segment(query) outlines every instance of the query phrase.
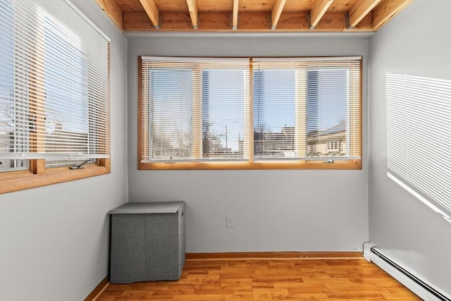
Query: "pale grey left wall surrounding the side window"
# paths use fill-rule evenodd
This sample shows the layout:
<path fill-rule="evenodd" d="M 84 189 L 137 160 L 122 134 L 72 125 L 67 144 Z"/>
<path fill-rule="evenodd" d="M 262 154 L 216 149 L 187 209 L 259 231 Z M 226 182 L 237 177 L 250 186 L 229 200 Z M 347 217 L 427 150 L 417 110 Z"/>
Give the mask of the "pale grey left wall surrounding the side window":
<path fill-rule="evenodd" d="M 73 0 L 111 38 L 111 174 L 0 195 L 0 300 L 80 301 L 107 275 L 109 217 L 127 202 L 127 41 L 95 1 Z"/>

